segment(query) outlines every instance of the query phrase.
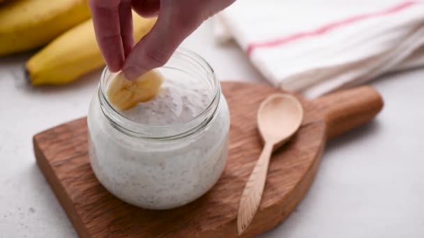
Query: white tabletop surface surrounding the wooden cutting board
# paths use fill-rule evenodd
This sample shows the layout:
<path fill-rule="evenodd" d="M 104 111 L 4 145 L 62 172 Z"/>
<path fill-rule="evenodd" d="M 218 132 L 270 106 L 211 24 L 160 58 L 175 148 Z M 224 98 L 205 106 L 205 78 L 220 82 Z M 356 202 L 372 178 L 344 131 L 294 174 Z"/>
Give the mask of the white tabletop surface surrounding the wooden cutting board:
<path fill-rule="evenodd" d="M 266 81 L 236 46 L 220 47 L 207 22 L 186 42 L 223 80 Z M 64 87 L 32 88 L 27 56 L 0 58 L 0 237 L 77 237 L 36 166 L 31 138 L 86 115 L 99 72 Z M 374 81 L 377 119 L 329 143 L 296 211 L 259 237 L 424 237 L 424 69 Z"/>

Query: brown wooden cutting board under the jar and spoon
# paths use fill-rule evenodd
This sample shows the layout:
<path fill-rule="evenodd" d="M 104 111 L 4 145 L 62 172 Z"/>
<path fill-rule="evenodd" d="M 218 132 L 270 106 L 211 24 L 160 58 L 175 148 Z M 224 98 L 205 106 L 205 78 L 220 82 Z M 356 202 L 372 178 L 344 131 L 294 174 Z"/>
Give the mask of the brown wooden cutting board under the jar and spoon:
<path fill-rule="evenodd" d="M 108 193 L 91 171 L 86 118 L 33 137 L 38 166 L 81 237 L 237 237 L 241 193 L 259 157 L 259 104 L 281 91 L 269 86 L 225 82 L 231 111 L 229 157 L 218 183 L 183 207 L 153 211 L 128 205 Z M 273 154 L 262 203 L 243 237 L 284 221 L 308 191 L 326 140 L 371 120 L 382 108 L 370 87 L 354 88 L 307 101 L 301 129 Z"/>

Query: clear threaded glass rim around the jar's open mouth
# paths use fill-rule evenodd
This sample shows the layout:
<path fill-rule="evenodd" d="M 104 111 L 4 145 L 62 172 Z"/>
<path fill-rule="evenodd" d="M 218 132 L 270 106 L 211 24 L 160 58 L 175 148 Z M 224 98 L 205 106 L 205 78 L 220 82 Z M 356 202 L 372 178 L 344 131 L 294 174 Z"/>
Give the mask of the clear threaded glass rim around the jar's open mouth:
<path fill-rule="evenodd" d="M 105 84 L 109 76 L 108 74 L 113 73 L 109 71 L 109 68 L 105 67 L 100 76 L 98 99 L 100 102 L 100 109 L 112 127 L 117 129 L 119 132 L 134 138 L 171 140 L 195 134 L 195 132 L 199 131 L 199 129 L 207 127 L 210 124 L 213 118 L 215 118 L 215 115 L 218 112 L 218 108 L 220 106 L 221 89 L 220 82 L 218 77 L 216 77 L 215 71 L 211 65 L 209 65 L 209 63 L 204 58 L 202 58 L 202 56 L 199 56 L 199 54 L 196 54 L 194 51 L 189 49 L 179 48 L 171 56 L 171 58 L 173 57 L 190 59 L 203 70 L 205 70 L 206 73 L 211 74 L 213 97 L 205 109 L 203 109 L 200 113 L 187 122 L 175 125 L 146 125 L 140 122 L 132 121 L 125 116 L 122 116 L 119 111 L 116 111 L 116 109 L 114 109 L 114 107 L 109 103 L 109 100 L 107 100 Z M 172 67 L 168 67 L 166 64 L 161 68 L 174 69 Z"/>

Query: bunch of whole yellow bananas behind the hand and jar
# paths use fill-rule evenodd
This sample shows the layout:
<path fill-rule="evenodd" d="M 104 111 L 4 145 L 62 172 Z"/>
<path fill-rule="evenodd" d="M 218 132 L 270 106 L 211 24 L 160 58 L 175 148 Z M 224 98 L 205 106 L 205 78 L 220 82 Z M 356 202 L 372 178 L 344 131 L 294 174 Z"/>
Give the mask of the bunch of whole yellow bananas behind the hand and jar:
<path fill-rule="evenodd" d="M 0 0 L 1 3 L 2 0 Z M 0 4 L 0 56 L 40 49 L 26 63 L 33 85 L 67 84 L 105 65 L 96 42 L 89 0 L 6 0 Z M 132 14 L 135 40 L 156 18 Z"/>

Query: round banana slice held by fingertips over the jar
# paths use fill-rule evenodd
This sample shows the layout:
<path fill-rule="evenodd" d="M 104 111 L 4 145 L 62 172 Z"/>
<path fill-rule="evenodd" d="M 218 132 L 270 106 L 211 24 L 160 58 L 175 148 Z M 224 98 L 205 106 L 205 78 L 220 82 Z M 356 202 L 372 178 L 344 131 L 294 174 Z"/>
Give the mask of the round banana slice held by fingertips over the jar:
<path fill-rule="evenodd" d="M 162 82 L 162 74 L 157 70 L 146 72 L 134 81 L 129 81 L 119 72 L 107 87 L 107 98 L 116 109 L 126 111 L 158 95 Z"/>

